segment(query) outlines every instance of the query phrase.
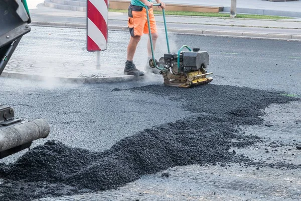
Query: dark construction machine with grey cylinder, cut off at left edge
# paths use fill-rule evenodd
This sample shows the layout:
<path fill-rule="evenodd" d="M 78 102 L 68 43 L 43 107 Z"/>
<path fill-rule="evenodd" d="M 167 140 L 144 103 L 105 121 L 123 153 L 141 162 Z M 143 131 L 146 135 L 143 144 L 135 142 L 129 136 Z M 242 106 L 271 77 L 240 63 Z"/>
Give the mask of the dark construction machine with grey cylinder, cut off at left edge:
<path fill-rule="evenodd" d="M 22 37 L 30 32 L 30 23 L 26 0 L 0 0 L 0 75 Z M 16 119 L 13 108 L 0 104 L 0 159 L 29 148 L 49 133 L 44 119 Z"/>

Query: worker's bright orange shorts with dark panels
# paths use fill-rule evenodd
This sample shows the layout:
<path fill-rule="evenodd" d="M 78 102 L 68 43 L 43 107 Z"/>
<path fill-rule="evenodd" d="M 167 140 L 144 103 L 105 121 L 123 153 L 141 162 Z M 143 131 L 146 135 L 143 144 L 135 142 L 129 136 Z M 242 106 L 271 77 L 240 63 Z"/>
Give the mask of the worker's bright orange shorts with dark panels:
<path fill-rule="evenodd" d="M 153 9 L 148 9 L 150 32 L 157 33 L 156 20 Z M 127 26 L 131 37 L 148 34 L 146 9 L 139 6 L 129 5 Z"/>

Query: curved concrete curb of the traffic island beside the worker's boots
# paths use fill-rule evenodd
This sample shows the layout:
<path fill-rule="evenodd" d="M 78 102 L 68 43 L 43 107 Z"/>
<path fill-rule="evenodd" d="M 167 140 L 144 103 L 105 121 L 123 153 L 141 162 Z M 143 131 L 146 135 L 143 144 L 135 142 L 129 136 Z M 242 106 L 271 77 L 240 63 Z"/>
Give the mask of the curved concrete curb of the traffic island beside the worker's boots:
<path fill-rule="evenodd" d="M 15 79 L 29 79 L 36 81 L 52 81 L 52 82 L 61 82 L 61 83 L 75 83 L 75 84 L 96 84 L 96 83 L 114 83 L 114 82 L 126 82 L 132 80 L 143 80 L 144 76 L 135 78 L 131 75 L 122 75 L 116 77 L 50 77 L 43 75 L 33 75 L 25 72 L 15 72 L 4 70 L 1 74 L 1 77 L 15 78 Z"/>

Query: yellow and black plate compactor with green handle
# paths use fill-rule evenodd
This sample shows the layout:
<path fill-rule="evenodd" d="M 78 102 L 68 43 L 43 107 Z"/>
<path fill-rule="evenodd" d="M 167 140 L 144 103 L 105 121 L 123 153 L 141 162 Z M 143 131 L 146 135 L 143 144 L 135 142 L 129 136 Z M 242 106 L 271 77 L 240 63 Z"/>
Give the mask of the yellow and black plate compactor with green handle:
<path fill-rule="evenodd" d="M 161 4 L 154 4 L 153 6 L 161 6 Z M 207 77 L 207 75 L 213 73 L 207 73 L 206 71 L 206 68 L 209 65 L 208 52 L 200 51 L 200 48 L 191 49 L 187 45 L 183 45 L 178 52 L 172 53 L 170 51 L 164 9 L 163 19 L 168 53 L 164 54 L 164 57 L 160 58 L 159 62 L 155 59 L 148 12 L 148 8 L 146 7 L 150 47 L 152 48 L 153 56 L 153 58 L 149 60 L 149 66 L 160 70 L 160 74 L 164 77 L 164 84 L 188 88 L 194 85 L 211 82 L 213 78 Z M 184 48 L 187 48 L 189 52 L 182 51 Z"/>

